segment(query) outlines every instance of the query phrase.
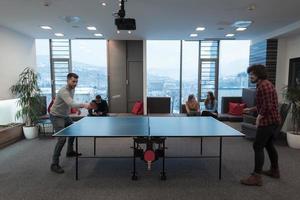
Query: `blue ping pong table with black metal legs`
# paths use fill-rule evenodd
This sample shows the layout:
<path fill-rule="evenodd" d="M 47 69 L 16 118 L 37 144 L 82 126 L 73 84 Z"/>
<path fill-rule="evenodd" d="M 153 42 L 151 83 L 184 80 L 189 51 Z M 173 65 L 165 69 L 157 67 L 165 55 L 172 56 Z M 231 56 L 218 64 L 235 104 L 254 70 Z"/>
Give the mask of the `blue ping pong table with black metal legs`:
<path fill-rule="evenodd" d="M 212 117 L 85 117 L 78 122 L 54 134 L 55 137 L 75 137 L 76 152 L 78 152 L 78 138 L 133 138 L 133 174 L 132 180 L 137 179 L 136 158 L 142 157 L 145 151 L 140 147 L 146 144 L 147 148 L 157 147 L 155 159 L 162 158 L 160 177 L 166 180 L 165 172 L 165 140 L 171 137 L 201 138 L 201 156 L 219 159 L 219 179 L 222 174 L 222 143 L 223 137 L 243 137 L 237 130 Z M 219 138 L 219 155 L 202 156 L 202 138 Z M 96 142 L 96 139 L 94 140 Z M 149 147 L 150 146 L 150 147 Z M 94 143 L 95 150 L 95 143 Z M 78 159 L 98 158 L 94 156 L 76 156 L 75 178 L 78 180 Z"/>

